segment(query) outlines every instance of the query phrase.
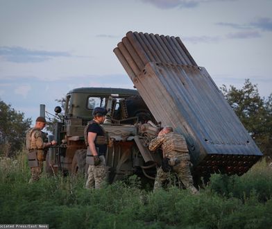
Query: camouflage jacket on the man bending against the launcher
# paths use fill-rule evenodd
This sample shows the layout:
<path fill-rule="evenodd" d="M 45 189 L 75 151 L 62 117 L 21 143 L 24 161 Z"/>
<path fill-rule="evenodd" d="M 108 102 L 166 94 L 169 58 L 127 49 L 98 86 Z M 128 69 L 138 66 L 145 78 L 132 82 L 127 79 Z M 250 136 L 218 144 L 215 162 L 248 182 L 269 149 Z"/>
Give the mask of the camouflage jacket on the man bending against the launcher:
<path fill-rule="evenodd" d="M 155 151 L 160 146 L 162 146 L 164 157 L 173 158 L 184 154 L 189 156 L 185 137 L 178 133 L 170 132 L 152 139 L 148 149 Z"/>

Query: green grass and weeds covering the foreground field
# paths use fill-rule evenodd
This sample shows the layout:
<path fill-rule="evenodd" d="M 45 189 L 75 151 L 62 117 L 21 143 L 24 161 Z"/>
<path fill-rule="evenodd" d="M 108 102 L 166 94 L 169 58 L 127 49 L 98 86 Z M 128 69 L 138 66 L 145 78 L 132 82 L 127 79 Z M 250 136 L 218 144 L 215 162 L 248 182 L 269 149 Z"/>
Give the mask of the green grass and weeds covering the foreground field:
<path fill-rule="evenodd" d="M 25 159 L 4 164 L 0 223 L 46 223 L 50 228 L 272 228 L 272 169 L 264 162 L 241 177 L 215 174 L 196 196 L 176 187 L 140 189 L 135 176 L 99 190 L 85 189 L 80 176 L 43 174 L 29 185 Z"/>

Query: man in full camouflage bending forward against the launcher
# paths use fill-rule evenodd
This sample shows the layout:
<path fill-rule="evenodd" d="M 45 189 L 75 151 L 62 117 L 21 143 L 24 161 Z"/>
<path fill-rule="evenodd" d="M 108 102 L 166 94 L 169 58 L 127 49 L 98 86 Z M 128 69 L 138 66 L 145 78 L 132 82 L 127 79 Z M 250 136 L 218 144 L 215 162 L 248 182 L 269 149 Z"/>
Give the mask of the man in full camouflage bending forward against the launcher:
<path fill-rule="evenodd" d="M 172 170 L 187 189 L 193 194 L 198 193 L 193 185 L 193 178 L 189 169 L 190 156 L 185 138 L 178 133 L 173 133 L 171 126 L 165 126 L 158 133 L 158 137 L 151 140 L 148 148 L 155 151 L 160 146 L 162 146 L 163 160 L 162 167 L 157 170 L 154 190 L 162 187 L 162 182 L 169 178 Z"/>

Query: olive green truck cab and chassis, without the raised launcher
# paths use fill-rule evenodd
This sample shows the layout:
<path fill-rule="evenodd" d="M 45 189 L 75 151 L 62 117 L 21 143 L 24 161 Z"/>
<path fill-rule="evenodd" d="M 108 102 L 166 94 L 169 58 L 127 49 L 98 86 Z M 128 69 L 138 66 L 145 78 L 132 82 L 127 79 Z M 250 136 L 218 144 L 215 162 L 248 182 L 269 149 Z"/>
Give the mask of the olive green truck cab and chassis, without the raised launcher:
<path fill-rule="evenodd" d="M 98 106 L 109 110 L 108 124 L 103 128 L 110 140 L 105 157 L 110 180 L 131 174 L 153 179 L 160 155 L 151 155 L 144 146 L 155 137 L 160 125 L 137 90 L 121 88 L 82 87 L 67 93 L 64 114 L 60 114 L 59 106 L 55 108 L 60 121 L 54 124 L 51 138 L 58 146 L 46 156 L 46 172 L 85 173 L 87 147 L 83 133 L 92 119 L 92 110 Z"/>

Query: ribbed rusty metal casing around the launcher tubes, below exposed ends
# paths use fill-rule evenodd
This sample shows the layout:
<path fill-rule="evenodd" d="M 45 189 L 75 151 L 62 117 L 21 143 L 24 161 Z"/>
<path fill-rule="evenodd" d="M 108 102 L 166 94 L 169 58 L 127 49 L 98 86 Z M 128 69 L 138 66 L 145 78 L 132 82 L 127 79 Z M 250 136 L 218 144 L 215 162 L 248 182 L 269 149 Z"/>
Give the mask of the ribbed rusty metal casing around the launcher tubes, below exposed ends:
<path fill-rule="evenodd" d="M 191 152 L 261 155 L 205 68 L 150 62 L 133 83 L 155 119 L 185 135 Z"/>

